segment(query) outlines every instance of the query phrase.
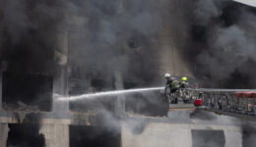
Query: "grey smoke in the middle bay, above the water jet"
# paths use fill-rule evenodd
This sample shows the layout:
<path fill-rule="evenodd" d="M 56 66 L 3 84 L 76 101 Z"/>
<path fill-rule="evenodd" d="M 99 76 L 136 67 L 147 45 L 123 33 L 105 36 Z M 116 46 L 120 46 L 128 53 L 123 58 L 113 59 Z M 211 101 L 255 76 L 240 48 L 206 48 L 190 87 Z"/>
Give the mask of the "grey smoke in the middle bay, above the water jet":
<path fill-rule="evenodd" d="M 70 64 L 94 69 L 94 76 L 111 78 L 120 72 L 124 82 L 153 84 L 158 65 L 160 9 L 154 1 L 78 1 L 70 3 Z M 73 27 L 74 26 L 74 27 Z M 82 32 L 81 32 L 82 30 Z"/>

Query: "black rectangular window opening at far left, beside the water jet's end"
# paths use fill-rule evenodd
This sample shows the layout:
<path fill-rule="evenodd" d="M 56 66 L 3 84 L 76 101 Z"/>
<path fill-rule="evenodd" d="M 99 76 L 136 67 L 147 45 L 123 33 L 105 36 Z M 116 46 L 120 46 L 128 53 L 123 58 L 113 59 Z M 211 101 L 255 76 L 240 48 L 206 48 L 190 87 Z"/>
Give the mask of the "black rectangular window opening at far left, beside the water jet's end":
<path fill-rule="evenodd" d="M 3 108 L 51 110 L 52 76 L 4 72 L 2 84 Z"/>

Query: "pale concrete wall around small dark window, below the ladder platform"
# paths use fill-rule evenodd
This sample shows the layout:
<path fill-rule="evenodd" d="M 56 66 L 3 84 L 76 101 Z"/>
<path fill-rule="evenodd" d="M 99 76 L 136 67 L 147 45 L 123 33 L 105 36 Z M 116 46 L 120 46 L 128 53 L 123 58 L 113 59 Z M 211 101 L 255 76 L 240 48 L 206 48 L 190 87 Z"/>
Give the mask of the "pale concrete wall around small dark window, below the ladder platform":
<path fill-rule="evenodd" d="M 148 123 L 141 134 L 134 134 L 127 125 L 122 125 L 122 147 L 191 147 L 192 129 L 224 130 L 225 147 L 241 145 L 241 132 L 237 126 Z"/>

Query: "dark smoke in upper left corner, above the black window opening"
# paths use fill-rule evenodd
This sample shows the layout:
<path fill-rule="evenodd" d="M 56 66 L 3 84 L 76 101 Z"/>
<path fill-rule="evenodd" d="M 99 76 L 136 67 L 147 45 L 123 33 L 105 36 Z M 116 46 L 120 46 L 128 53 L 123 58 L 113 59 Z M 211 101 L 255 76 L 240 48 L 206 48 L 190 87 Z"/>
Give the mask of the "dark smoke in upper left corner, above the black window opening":
<path fill-rule="evenodd" d="M 9 69 L 51 72 L 59 26 L 64 19 L 62 0 L 1 0 L 0 52 Z"/>

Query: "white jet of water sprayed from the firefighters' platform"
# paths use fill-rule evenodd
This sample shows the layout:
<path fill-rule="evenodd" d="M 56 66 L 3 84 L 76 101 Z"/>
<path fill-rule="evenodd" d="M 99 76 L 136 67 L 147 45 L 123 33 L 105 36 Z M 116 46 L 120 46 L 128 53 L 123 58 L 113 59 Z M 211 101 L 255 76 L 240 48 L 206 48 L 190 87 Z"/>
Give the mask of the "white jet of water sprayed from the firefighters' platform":
<path fill-rule="evenodd" d="M 114 91 L 104 91 L 104 92 L 97 92 L 97 93 L 87 93 L 87 94 L 76 95 L 76 96 L 61 96 L 61 95 L 55 94 L 54 96 L 57 97 L 57 100 L 59 101 L 77 101 L 77 100 L 83 100 L 83 99 L 94 99 L 96 97 L 101 97 L 101 96 L 161 90 L 163 88 L 164 87 L 152 87 L 152 88 L 138 88 L 138 89 L 127 89 L 127 90 L 114 90 Z"/>

